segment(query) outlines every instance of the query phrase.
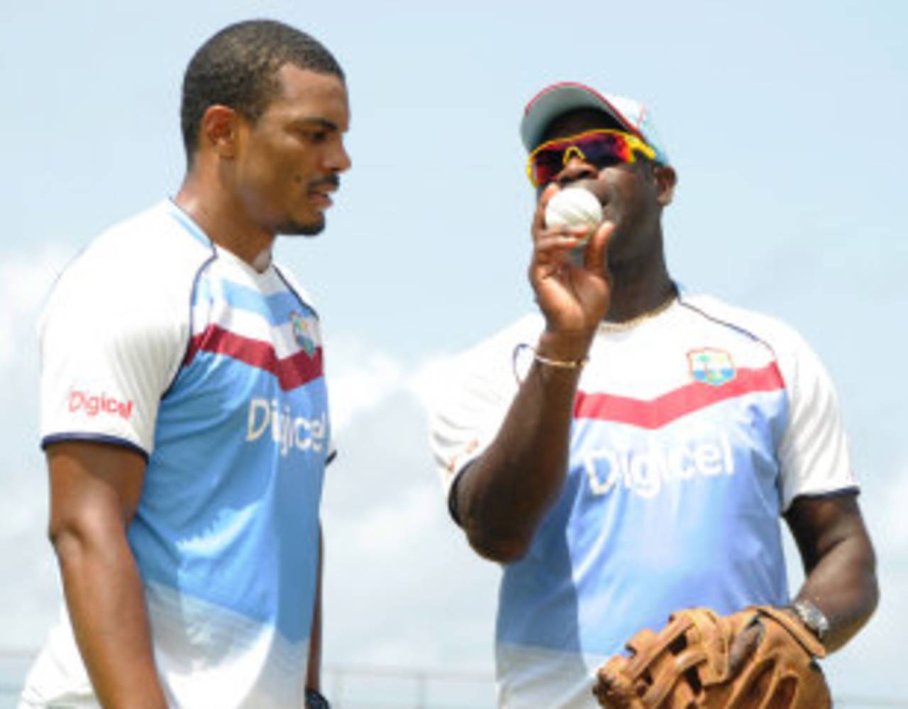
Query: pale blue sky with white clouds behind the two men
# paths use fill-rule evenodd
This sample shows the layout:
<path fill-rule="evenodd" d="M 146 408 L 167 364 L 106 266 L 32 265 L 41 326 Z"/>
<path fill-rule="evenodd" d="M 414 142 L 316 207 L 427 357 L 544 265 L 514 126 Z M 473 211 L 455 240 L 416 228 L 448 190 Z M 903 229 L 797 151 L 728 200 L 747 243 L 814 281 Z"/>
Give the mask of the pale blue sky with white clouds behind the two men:
<path fill-rule="evenodd" d="M 883 604 L 827 667 L 908 697 L 908 4 L 16 3 L 0 25 L 0 644 L 56 612 L 36 446 L 34 320 L 105 225 L 183 175 L 183 68 L 214 31 L 282 19 L 349 77 L 353 168 L 314 240 L 278 257 L 321 306 L 341 458 L 325 489 L 326 661 L 489 669 L 498 571 L 444 513 L 421 402 L 435 364 L 533 306 L 523 105 L 579 80 L 651 105 L 676 166 L 672 273 L 795 325 L 839 387 Z M 796 566 L 796 564 L 793 564 Z M 409 618 L 419 614 L 419 624 Z"/>

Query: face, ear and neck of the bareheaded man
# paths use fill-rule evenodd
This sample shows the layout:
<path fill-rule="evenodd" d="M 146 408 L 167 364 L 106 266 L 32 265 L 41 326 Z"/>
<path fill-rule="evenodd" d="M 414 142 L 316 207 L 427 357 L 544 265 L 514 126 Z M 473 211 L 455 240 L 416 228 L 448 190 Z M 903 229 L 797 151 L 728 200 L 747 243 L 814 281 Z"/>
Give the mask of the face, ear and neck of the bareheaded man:
<path fill-rule="evenodd" d="M 277 95 L 255 121 L 213 105 L 176 203 L 212 240 L 267 265 L 276 235 L 316 235 L 350 168 L 350 127 L 340 77 L 294 65 L 276 72 Z M 262 255 L 266 255 L 262 258 Z"/>

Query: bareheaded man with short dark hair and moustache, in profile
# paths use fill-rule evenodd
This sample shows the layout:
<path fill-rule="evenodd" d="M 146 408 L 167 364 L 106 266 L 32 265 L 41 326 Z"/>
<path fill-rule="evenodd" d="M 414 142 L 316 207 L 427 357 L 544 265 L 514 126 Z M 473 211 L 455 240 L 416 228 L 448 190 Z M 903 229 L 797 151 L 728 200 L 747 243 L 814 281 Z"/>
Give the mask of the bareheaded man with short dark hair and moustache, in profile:
<path fill-rule="evenodd" d="M 325 226 L 345 78 L 310 35 L 242 22 L 192 57 L 181 116 L 177 195 L 95 239 L 42 315 L 65 604 L 23 707 L 328 705 L 321 326 L 271 250 Z"/>

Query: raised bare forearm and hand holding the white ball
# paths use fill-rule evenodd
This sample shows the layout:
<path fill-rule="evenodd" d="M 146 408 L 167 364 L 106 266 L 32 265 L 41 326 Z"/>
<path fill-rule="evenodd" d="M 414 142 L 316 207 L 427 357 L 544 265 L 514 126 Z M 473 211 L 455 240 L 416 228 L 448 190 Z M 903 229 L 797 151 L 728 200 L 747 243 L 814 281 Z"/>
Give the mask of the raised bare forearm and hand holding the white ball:
<path fill-rule="evenodd" d="M 546 319 L 537 353 L 572 362 L 587 356 L 608 307 L 602 264 L 613 226 L 602 225 L 592 236 L 583 265 L 570 265 L 568 252 L 583 230 L 545 228 L 545 205 L 555 192 L 549 187 L 543 193 L 534 217 L 529 279 Z M 520 558 L 558 498 L 579 374 L 534 362 L 495 440 L 459 475 L 455 508 L 479 554 L 502 562 Z"/>

